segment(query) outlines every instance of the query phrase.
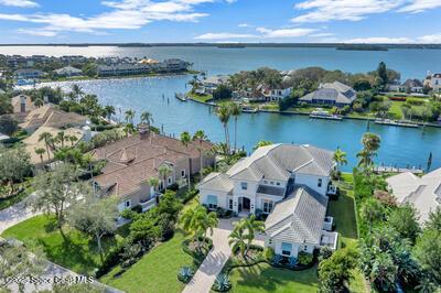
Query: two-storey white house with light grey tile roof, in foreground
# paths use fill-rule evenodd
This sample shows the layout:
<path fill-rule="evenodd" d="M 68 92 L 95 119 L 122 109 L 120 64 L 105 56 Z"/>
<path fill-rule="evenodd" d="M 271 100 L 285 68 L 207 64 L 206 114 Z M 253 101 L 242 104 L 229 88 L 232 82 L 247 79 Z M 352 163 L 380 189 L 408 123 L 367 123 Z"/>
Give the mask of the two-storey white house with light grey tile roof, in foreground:
<path fill-rule="evenodd" d="M 272 144 L 256 150 L 228 172 L 212 173 L 200 184 L 201 203 L 239 217 L 267 214 L 266 246 L 297 257 L 303 250 L 336 248 L 326 218 L 327 194 L 335 192 L 333 152 L 312 145 Z M 327 223 L 327 224 L 326 224 Z M 325 229 L 324 229 L 325 228 Z M 288 249 L 289 248 L 289 249 Z"/>

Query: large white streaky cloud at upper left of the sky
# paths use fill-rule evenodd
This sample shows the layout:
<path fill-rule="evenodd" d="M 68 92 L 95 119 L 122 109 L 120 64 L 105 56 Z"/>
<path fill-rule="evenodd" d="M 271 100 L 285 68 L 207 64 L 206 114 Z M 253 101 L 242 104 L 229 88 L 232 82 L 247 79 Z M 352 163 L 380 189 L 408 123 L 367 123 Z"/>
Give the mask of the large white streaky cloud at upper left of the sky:
<path fill-rule="evenodd" d="M 63 31 L 98 33 L 100 30 L 136 30 L 153 21 L 196 22 L 201 18 L 208 15 L 207 13 L 196 12 L 196 6 L 215 1 L 216 0 L 103 1 L 101 4 L 111 10 L 93 17 L 74 17 L 67 13 L 0 13 L 0 20 L 41 24 L 42 26 L 37 28 L 35 32 L 42 35 L 46 34 L 47 36 Z"/>

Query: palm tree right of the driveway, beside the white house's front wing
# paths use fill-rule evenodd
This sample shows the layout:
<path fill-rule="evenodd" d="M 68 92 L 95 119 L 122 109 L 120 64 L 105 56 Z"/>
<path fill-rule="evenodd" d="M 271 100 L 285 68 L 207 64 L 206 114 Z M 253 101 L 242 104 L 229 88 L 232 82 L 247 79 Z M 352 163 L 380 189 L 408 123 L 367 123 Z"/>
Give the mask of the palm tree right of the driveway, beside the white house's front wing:
<path fill-rule="evenodd" d="M 246 259 L 251 243 L 256 238 L 256 234 L 258 232 L 265 232 L 265 224 L 257 220 L 256 215 L 251 215 L 248 218 L 243 218 L 238 223 L 235 223 L 228 241 L 233 252 L 240 251 L 243 258 Z"/>

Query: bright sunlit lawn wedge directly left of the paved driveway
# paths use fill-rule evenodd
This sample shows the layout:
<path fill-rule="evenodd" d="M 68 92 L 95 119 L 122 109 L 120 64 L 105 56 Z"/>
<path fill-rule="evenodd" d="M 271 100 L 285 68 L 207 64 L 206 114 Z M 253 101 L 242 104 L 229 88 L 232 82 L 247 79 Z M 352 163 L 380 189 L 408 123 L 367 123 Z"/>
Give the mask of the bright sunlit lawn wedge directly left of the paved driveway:
<path fill-rule="evenodd" d="M 178 231 L 171 240 L 152 249 L 121 275 L 115 276 L 120 272 L 118 267 L 100 281 L 128 293 L 181 292 L 184 285 L 178 281 L 179 269 L 193 262 L 193 258 L 182 250 L 184 239 L 184 235 Z"/>

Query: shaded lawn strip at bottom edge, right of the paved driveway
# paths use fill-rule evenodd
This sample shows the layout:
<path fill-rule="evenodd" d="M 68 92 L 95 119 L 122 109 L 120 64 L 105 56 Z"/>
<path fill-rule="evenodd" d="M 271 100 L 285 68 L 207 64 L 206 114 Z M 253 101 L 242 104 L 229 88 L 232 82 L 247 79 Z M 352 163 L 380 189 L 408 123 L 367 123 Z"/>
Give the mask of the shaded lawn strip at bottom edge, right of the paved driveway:
<path fill-rule="evenodd" d="M 316 268 L 293 272 L 276 269 L 267 263 L 234 269 L 230 273 L 232 292 L 316 292 Z"/>

